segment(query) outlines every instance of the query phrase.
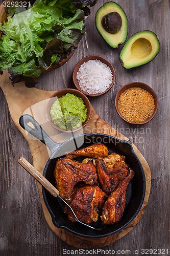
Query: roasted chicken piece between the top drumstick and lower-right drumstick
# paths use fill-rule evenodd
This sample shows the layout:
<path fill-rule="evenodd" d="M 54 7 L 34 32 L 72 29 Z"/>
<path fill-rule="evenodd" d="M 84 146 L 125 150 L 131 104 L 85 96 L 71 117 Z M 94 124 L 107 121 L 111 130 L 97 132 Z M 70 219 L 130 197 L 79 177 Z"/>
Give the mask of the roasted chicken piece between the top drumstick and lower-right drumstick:
<path fill-rule="evenodd" d="M 122 160 L 113 162 L 114 165 L 112 165 L 111 162 L 105 164 L 104 159 L 99 157 L 95 163 L 99 182 L 107 194 L 112 193 L 117 184 L 128 174 L 128 165 Z"/>

